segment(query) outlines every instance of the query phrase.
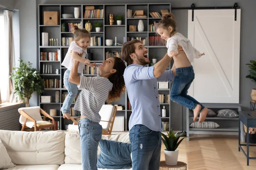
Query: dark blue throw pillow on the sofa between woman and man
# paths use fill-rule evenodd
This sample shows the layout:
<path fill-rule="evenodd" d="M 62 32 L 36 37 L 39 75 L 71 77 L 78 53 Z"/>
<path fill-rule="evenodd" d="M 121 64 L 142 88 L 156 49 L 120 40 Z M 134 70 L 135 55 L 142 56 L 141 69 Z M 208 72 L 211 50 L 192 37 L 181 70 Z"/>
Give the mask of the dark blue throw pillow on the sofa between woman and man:
<path fill-rule="evenodd" d="M 117 142 L 102 139 L 99 142 L 100 155 L 97 161 L 98 168 L 130 169 L 131 143 Z"/>

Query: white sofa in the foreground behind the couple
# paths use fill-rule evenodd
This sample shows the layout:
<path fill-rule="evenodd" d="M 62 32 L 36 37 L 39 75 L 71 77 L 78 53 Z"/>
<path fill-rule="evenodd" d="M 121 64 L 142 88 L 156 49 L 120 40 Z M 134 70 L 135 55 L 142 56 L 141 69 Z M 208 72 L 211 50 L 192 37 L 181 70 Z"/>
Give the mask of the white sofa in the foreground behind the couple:
<path fill-rule="evenodd" d="M 62 130 L 0 130 L 0 139 L 16 165 L 8 170 L 82 170 L 80 136 L 77 131 L 68 131 L 65 134 Z M 102 135 L 102 139 L 130 142 L 128 133 Z M 99 153 L 98 147 L 98 156 Z"/>

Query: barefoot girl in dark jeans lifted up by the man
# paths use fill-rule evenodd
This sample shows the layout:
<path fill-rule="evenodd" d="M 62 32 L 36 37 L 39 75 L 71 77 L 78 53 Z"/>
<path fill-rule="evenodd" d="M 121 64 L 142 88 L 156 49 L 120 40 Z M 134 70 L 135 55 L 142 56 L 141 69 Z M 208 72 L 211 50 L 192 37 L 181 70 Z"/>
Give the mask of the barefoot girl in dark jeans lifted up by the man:
<path fill-rule="evenodd" d="M 191 62 L 194 58 L 199 58 L 201 54 L 195 49 L 191 42 L 182 34 L 176 32 L 176 21 L 172 13 L 166 14 L 159 23 L 157 23 L 157 33 L 163 40 L 167 41 L 166 47 L 169 57 L 174 59 L 174 67 L 176 68 L 176 76 L 172 83 L 170 98 L 173 102 L 177 102 L 190 110 L 194 111 L 194 122 L 200 112 L 199 123 L 203 122 L 207 116 L 208 109 L 201 105 L 200 102 L 193 97 L 187 95 L 188 89 L 195 79 L 195 73 Z M 186 55 L 175 57 L 178 45 L 182 46 Z"/>

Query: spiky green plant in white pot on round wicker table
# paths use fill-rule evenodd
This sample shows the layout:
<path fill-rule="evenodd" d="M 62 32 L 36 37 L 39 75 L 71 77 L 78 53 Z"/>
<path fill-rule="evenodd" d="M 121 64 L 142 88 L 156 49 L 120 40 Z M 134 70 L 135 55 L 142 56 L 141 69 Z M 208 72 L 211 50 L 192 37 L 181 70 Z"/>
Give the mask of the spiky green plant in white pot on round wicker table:
<path fill-rule="evenodd" d="M 166 149 L 164 150 L 166 164 L 176 165 L 177 161 L 178 161 L 178 155 L 179 155 L 179 150 L 177 150 L 177 147 L 183 141 L 183 139 L 186 137 L 180 139 L 180 136 L 182 136 L 184 133 L 177 132 L 176 134 L 174 134 L 172 129 L 169 132 L 167 132 L 168 136 L 166 136 L 163 133 L 161 133 L 161 134 L 162 134 L 163 144 L 166 147 Z M 179 141 L 179 139 L 180 139 L 180 141 Z"/>

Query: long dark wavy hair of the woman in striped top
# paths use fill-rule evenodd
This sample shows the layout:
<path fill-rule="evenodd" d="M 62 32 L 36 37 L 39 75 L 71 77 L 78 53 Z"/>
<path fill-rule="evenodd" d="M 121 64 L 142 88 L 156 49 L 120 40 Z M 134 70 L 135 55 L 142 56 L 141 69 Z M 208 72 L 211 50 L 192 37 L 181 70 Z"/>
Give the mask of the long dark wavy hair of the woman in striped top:
<path fill-rule="evenodd" d="M 121 94 L 125 91 L 125 63 L 119 57 L 113 57 L 115 63 L 113 69 L 116 69 L 116 73 L 112 74 L 108 79 L 113 83 L 112 90 L 108 94 L 107 102 L 111 103 L 120 98 Z"/>

